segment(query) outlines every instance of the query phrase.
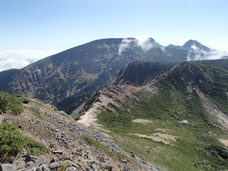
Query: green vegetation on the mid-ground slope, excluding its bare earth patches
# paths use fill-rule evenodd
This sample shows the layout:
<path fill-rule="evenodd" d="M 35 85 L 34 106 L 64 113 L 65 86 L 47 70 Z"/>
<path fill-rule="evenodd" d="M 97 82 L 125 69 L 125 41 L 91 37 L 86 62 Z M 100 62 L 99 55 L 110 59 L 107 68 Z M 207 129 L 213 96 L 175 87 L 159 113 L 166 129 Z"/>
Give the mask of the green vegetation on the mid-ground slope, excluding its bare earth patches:
<path fill-rule="evenodd" d="M 156 95 L 141 92 L 138 94 L 139 102 L 130 102 L 123 108 L 115 108 L 116 112 L 107 109 L 98 116 L 98 122 L 113 135 L 125 138 L 122 141 L 118 140 L 118 143 L 126 150 L 134 152 L 143 159 L 155 161 L 170 170 L 224 170 L 228 168 L 228 152 L 217 138 L 226 138 L 226 133 L 210 124 L 210 118 L 197 93 L 186 91 L 184 84 L 180 82 L 183 78 L 178 72 L 183 74 L 183 69 L 188 66 L 180 67 L 156 85 L 159 88 Z M 191 65 L 191 70 L 197 73 L 208 69 L 211 68 L 198 64 Z M 214 69 L 211 70 L 214 72 Z M 224 104 L 220 103 L 217 92 L 220 95 L 224 94 L 227 73 L 221 69 L 217 70 L 219 77 L 216 79 L 220 81 L 217 81 L 219 86 L 214 87 L 201 75 L 198 75 L 199 80 L 195 77 L 194 80 L 190 79 L 191 75 L 188 73 L 185 75 L 190 82 L 201 86 L 202 90 L 204 89 L 205 93 L 225 112 L 227 109 L 224 104 L 227 104 L 228 99 L 224 97 Z M 207 73 L 212 74 L 209 71 Z M 217 74 L 215 72 L 214 76 L 218 76 Z M 219 88 L 215 89 L 216 87 Z M 145 118 L 152 123 L 133 123 L 132 120 L 137 118 Z M 182 120 L 188 120 L 191 124 L 182 124 L 179 122 Z M 174 146 L 147 138 L 138 138 L 131 134 L 151 135 L 161 132 L 156 130 L 157 128 L 168 129 L 166 133 L 177 137 Z"/>

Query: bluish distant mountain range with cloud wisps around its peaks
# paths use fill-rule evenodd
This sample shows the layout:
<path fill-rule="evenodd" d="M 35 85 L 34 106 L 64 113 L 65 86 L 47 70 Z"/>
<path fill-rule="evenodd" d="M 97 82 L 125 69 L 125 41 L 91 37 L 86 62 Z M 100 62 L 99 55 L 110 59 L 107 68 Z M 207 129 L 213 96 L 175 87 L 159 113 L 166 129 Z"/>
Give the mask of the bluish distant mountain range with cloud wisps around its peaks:
<path fill-rule="evenodd" d="M 129 62 L 204 60 L 213 52 L 194 40 L 166 47 L 152 38 L 143 42 L 135 38 L 95 40 L 22 69 L 0 72 L 0 90 L 26 94 L 71 113 Z"/>

